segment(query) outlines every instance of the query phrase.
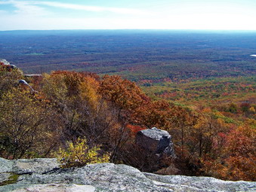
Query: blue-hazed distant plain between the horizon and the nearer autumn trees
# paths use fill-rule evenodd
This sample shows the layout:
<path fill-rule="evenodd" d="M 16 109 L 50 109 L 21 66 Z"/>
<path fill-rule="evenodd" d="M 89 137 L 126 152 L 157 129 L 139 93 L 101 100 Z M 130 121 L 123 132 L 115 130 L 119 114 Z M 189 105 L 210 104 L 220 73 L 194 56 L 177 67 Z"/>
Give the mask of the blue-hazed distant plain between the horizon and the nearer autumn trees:
<path fill-rule="evenodd" d="M 253 32 L 0 32 L 0 58 L 26 73 L 89 71 L 132 81 L 255 75 L 255 48 Z"/>

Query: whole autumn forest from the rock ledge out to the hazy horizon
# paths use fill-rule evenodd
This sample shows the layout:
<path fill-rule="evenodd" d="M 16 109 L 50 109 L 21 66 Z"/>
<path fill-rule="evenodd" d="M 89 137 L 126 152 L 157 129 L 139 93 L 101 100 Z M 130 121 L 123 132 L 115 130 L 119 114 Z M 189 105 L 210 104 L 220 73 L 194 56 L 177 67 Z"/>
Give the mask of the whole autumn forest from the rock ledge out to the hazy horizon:
<path fill-rule="evenodd" d="M 254 34 L 30 33 L 0 37 L 0 157 L 256 181 Z M 176 158 L 137 146 L 153 126 Z"/>

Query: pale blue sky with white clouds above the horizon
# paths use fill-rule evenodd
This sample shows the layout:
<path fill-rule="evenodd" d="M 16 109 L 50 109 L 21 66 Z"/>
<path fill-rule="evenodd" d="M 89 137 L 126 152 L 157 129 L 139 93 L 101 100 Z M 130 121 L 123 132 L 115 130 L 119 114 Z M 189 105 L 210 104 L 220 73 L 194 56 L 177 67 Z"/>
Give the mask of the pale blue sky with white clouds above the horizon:
<path fill-rule="evenodd" d="M 256 30 L 256 0 L 0 0 L 0 31 Z"/>

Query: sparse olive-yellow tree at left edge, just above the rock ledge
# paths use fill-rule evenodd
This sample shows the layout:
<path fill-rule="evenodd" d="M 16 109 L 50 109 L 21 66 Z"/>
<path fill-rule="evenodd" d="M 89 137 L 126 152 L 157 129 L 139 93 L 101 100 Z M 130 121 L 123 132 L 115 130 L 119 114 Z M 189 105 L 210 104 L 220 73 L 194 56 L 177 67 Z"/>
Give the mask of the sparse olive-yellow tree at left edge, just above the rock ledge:
<path fill-rule="evenodd" d="M 51 137 L 48 111 L 29 90 L 12 88 L 5 93 L 0 100 L 0 156 L 16 159 L 31 151 L 44 154 L 44 142 Z"/>

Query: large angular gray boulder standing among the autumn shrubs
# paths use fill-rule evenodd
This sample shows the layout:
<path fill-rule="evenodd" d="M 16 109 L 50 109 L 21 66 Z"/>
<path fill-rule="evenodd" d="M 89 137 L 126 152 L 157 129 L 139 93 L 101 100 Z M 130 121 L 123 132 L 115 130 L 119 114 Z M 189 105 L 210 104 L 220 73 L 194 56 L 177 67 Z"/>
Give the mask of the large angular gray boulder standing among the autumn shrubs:
<path fill-rule="evenodd" d="M 170 134 L 156 127 L 140 130 L 136 136 L 136 143 L 150 153 L 167 154 L 175 157 Z"/>

